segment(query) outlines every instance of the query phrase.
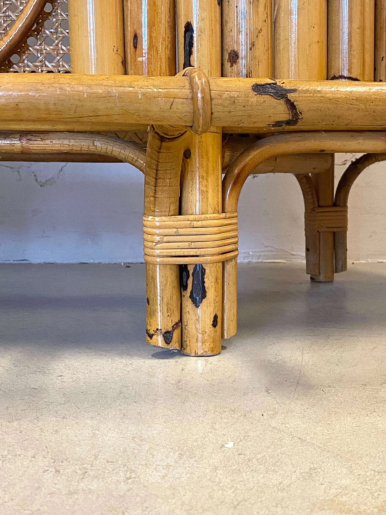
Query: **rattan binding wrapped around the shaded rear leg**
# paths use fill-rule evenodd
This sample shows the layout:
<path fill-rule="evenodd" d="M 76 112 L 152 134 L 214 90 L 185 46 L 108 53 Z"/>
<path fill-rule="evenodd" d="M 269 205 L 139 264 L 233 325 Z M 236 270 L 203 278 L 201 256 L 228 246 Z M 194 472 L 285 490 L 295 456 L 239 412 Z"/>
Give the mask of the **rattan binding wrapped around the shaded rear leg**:
<path fill-rule="evenodd" d="M 315 232 L 337 232 L 347 231 L 348 215 L 347 207 L 333 205 L 327 208 L 314 208 L 311 212 L 305 213 L 306 236 Z"/>

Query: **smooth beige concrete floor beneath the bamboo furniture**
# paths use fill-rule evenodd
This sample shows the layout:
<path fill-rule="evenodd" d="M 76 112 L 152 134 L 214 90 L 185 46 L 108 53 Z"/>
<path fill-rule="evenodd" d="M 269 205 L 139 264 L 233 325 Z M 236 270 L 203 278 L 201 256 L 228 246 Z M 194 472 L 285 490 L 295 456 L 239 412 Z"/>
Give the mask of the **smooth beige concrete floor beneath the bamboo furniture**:
<path fill-rule="evenodd" d="M 241 265 L 212 358 L 144 343 L 144 285 L 0 266 L 1 515 L 386 513 L 386 264 Z"/>

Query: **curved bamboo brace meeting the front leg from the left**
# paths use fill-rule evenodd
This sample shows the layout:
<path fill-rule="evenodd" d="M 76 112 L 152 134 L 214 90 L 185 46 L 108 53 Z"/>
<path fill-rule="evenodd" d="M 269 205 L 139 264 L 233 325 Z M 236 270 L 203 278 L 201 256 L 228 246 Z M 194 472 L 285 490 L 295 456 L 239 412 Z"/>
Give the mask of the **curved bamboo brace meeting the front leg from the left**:
<path fill-rule="evenodd" d="M 145 173 L 146 152 L 132 141 L 102 134 L 40 132 L 0 133 L 0 152 L 27 154 L 94 154 L 130 163 Z"/>

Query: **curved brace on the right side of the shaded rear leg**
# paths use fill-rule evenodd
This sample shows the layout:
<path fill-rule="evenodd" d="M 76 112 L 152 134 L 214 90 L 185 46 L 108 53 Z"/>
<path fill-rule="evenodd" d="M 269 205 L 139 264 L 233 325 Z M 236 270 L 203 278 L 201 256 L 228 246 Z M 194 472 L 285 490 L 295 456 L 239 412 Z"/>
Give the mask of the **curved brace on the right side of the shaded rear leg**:
<path fill-rule="evenodd" d="M 335 205 L 346 207 L 350 190 L 356 179 L 365 168 L 379 161 L 386 161 L 386 153 L 365 154 L 351 163 L 338 183 Z M 335 233 L 335 272 L 345 270 L 347 270 L 347 232 L 338 231 Z"/>

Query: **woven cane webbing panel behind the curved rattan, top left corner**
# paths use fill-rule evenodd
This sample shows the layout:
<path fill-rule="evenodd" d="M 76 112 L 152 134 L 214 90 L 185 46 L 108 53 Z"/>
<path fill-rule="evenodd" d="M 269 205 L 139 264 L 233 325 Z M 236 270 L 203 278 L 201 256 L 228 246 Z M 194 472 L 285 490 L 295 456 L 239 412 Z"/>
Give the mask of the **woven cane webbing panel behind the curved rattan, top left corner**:
<path fill-rule="evenodd" d="M 27 0 L 0 0 L 0 38 L 12 26 Z M 22 47 L 0 72 L 71 72 L 67 0 L 47 2 Z"/>

